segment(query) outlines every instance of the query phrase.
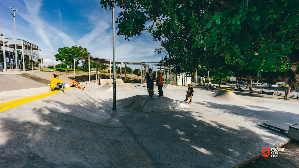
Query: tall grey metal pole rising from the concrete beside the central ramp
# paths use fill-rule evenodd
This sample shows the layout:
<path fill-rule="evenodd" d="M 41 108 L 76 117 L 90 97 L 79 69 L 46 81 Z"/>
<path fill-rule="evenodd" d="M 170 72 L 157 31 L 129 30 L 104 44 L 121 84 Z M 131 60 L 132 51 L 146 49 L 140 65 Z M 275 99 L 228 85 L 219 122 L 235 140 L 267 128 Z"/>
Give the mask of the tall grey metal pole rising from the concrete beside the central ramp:
<path fill-rule="evenodd" d="M 114 3 L 113 3 L 114 5 Z M 114 7 L 112 8 L 112 48 L 113 48 L 113 106 L 112 110 L 116 110 L 116 83 L 115 83 L 115 27 L 114 27 Z M 110 68 L 111 73 L 111 68 Z"/>

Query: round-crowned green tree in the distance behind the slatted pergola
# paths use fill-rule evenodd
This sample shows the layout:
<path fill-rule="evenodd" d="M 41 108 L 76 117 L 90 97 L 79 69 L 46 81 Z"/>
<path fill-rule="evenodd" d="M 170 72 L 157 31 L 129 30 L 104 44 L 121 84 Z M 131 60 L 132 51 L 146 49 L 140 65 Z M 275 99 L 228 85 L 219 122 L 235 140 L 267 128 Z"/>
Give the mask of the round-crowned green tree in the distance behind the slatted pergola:
<path fill-rule="evenodd" d="M 81 46 L 77 47 L 77 45 L 72 46 L 71 48 L 58 48 L 58 53 L 59 54 L 55 54 L 56 61 L 69 62 L 71 65 L 74 64 L 74 58 L 76 57 L 91 56 L 86 48 L 82 48 Z M 75 67 L 77 67 L 79 63 L 79 59 L 76 59 Z"/>

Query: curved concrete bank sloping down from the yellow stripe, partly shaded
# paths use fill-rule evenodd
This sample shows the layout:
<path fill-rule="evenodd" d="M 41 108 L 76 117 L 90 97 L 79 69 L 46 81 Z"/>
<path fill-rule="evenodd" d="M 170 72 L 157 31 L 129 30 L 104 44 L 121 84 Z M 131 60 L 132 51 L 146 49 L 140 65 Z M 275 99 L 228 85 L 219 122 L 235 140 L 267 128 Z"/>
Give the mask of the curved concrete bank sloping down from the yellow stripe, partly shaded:
<path fill-rule="evenodd" d="M 64 101 L 0 114 L 0 167 L 155 167 L 125 127 L 105 126 L 119 122 L 115 113 L 95 101 Z"/>

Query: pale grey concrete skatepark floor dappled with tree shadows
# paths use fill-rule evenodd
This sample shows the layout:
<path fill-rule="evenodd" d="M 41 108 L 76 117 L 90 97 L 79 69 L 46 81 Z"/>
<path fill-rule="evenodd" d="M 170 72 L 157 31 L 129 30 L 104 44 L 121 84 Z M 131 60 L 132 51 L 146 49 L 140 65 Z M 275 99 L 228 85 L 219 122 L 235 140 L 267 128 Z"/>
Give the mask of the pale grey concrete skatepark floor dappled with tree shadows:
<path fill-rule="evenodd" d="M 112 91 L 84 86 L 1 112 L 0 167 L 239 167 L 288 142 L 262 123 L 288 129 L 299 118 L 298 101 L 219 101 L 197 86 L 191 107 L 119 116 L 128 109 L 112 110 Z M 129 86 L 117 100 L 147 94 Z M 163 91 L 184 100 L 187 87 Z"/>

